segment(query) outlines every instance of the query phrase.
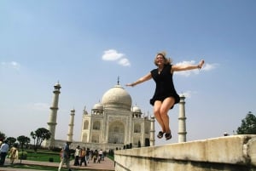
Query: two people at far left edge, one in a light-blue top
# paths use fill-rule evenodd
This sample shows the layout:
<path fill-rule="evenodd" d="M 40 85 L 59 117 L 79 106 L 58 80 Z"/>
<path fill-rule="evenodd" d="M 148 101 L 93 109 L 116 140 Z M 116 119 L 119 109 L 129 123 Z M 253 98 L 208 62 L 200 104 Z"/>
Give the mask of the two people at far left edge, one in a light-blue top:
<path fill-rule="evenodd" d="M 15 162 L 15 159 L 18 158 L 18 149 L 17 145 L 13 145 L 9 149 L 9 144 L 7 140 L 0 140 L 0 166 L 3 166 L 5 162 L 5 158 L 8 156 L 10 159 L 10 163 L 13 164 Z"/>

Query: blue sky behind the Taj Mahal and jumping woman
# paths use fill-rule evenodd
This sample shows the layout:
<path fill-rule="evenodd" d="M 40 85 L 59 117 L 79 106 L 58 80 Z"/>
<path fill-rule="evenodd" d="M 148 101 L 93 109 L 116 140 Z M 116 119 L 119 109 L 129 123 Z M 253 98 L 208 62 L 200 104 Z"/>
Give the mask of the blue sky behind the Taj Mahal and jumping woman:
<path fill-rule="evenodd" d="M 187 140 L 233 134 L 256 111 L 255 16 L 253 0 L 2 0 L 0 130 L 17 137 L 47 128 L 57 82 L 55 139 L 67 139 L 74 108 L 73 140 L 80 140 L 84 106 L 90 112 L 118 77 L 132 105 L 152 115 L 154 81 L 125 83 L 154 69 L 154 55 L 165 50 L 173 64 L 206 61 L 201 71 L 174 75 L 187 97 Z M 173 139 L 156 145 L 177 142 L 178 105 L 169 117 Z"/>

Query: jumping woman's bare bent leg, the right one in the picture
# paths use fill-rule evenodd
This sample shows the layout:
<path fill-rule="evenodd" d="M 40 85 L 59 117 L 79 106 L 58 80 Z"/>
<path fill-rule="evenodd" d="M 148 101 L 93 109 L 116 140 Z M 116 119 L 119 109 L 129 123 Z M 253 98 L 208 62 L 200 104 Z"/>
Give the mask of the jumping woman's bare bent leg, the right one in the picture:
<path fill-rule="evenodd" d="M 160 105 L 160 120 L 163 121 L 164 128 L 166 128 L 166 133 L 169 134 L 171 133 L 171 129 L 169 126 L 169 116 L 168 116 L 168 111 L 174 105 L 175 100 L 172 97 L 166 98 L 162 105 Z"/>

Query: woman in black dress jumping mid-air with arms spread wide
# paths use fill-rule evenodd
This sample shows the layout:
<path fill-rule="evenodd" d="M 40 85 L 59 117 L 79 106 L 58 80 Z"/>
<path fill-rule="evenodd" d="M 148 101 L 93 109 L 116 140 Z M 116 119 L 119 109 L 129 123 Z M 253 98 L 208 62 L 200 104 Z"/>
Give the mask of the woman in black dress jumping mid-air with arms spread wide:
<path fill-rule="evenodd" d="M 201 60 L 198 65 L 172 65 L 172 61 L 166 58 L 165 52 L 157 53 L 154 58 L 154 65 L 156 69 L 150 71 L 144 77 L 139 78 L 134 83 L 128 83 L 126 86 L 136 86 L 153 78 L 156 84 L 154 96 L 150 100 L 150 104 L 154 105 L 154 117 L 160 123 L 161 131 L 157 137 L 162 138 L 165 134 L 166 140 L 172 139 L 172 132 L 169 126 L 168 111 L 173 108 L 180 100 L 177 94 L 172 75 L 175 71 L 187 71 L 194 69 L 201 69 L 204 65 L 204 60 Z"/>

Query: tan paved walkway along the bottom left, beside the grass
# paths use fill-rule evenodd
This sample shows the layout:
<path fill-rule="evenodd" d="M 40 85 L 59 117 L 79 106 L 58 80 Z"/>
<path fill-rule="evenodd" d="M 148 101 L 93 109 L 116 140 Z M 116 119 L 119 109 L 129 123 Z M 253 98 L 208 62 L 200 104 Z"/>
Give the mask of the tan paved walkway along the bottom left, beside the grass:
<path fill-rule="evenodd" d="M 20 160 L 16 160 L 15 163 L 20 163 Z M 55 167 L 56 170 L 58 170 L 59 167 L 59 162 L 38 162 L 38 161 L 28 161 L 28 160 L 22 160 L 21 162 L 24 165 L 37 165 L 37 166 L 50 166 L 50 167 Z M 87 166 L 73 166 L 73 161 L 70 162 L 70 166 L 72 170 L 97 170 L 97 171 L 113 171 L 114 170 L 114 162 L 110 160 L 108 157 L 104 158 L 104 161 L 100 163 L 94 163 L 90 161 Z M 33 169 L 26 169 L 26 168 L 11 168 L 9 159 L 7 158 L 5 160 L 4 166 L 0 167 L 0 171 L 36 171 Z M 64 165 L 61 170 L 67 170 L 66 166 Z M 47 170 L 41 170 L 41 171 L 47 171 Z"/>

